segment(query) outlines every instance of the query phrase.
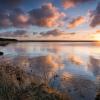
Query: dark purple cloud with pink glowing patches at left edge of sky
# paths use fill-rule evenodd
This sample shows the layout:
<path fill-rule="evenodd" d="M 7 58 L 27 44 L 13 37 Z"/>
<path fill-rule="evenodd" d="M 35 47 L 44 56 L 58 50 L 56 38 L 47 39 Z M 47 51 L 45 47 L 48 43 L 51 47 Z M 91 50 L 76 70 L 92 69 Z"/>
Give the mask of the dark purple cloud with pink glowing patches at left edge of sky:
<path fill-rule="evenodd" d="M 28 13 L 19 8 L 0 11 L 0 28 L 26 27 L 29 24 Z"/>

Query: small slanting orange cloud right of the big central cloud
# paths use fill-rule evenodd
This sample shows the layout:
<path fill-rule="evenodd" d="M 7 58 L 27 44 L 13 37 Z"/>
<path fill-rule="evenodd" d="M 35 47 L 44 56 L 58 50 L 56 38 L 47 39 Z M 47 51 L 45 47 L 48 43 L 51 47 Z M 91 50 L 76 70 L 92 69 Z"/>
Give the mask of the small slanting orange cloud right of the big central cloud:
<path fill-rule="evenodd" d="M 75 27 L 78 27 L 79 25 L 85 23 L 85 18 L 82 17 L 82 16 L 79 16 L 75 19 L 73 19 L 69 24 L 68 24 L 68 28 L 75 28 Z"/>

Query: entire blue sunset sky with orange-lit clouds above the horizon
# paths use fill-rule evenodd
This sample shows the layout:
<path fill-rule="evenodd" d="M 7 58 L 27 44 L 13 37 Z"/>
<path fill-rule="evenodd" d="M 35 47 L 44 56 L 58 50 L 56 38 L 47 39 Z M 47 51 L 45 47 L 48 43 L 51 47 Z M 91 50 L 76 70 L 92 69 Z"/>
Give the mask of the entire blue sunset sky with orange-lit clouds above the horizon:
<path fill-rule="evenodd" d="M 96 39 L 100 0 L 0 0 L 0 36 Z"/>

